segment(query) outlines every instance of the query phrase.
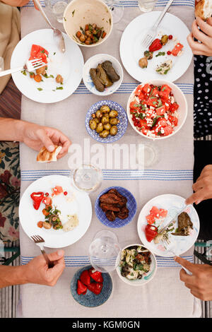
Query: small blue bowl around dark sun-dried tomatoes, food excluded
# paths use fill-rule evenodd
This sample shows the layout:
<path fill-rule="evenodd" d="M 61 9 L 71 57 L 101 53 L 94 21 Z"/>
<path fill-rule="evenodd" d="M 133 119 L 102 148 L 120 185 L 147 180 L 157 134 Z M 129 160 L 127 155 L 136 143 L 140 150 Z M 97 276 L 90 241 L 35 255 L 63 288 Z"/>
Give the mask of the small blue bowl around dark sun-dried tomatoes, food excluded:
<path fill-rule="evenodd" d="M 127 198 L 126 208 L 129 209 L 129 215 L 126 219 L 116 218 L 114 221 L 110 221 L 107 219 L 105 212 L 102 211 L 102 209 L 100 208 L 100 196 L 102 196 L 102 194 L 107 193 L 107 191 L 109 191 L 110 189 L 117 189 L 117 191 L 119 191 L 119 194 Z M 129 224 L 131 220 L 134 218 L 136 210 L 137 210 L 136 199 L 129 190 L 122 188 L 122 186 L 110 186 L 109 188 L 104 189 L 99 194 L 98 198 L 95 201 L 95 214 L 97 215 L 100 222 L 107 227 L 119 228 Z"/>

